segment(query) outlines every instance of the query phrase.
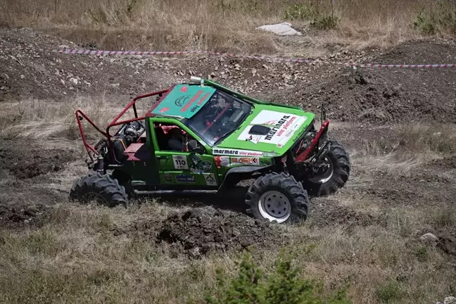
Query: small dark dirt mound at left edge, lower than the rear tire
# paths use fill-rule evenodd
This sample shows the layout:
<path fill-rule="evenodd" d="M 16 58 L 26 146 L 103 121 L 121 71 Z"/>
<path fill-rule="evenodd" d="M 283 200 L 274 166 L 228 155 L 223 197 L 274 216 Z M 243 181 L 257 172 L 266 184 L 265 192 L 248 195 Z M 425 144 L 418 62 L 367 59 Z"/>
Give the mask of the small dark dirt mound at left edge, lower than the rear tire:
<path fill-rule="evenodd" d="M 49 207 L 45 205 L 6 205 L 0 204 L 0 228 L 20 229 L 39 226 L 49 217 Z"/>

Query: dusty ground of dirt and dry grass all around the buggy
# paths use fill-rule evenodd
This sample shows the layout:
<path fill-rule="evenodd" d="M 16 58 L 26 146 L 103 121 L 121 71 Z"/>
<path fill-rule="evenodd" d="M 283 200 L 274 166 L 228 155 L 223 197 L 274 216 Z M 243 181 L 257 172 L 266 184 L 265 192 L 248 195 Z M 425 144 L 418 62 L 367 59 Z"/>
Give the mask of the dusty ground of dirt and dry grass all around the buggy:
<path fill-rule="evenodd" d="M 335 53 L 335 63 L 220 57 L 68 56 L 74 46 L 0 29 L 0 302 L 182 303 L 234 271 L 253 246 L 266 268 L 285 248 L 302 275 L 354 303 L 435 303 L 456 290 L 456 70 L 368 69 L 338 63 L 454 63 L 454 41 Z M 15 46 L 30 46 L 15 51 Z M 323 58 L 325 59 L 325 58 Z M 326 58 L 328 59 L 328 58 Z M 265 224 L 242 202 L 141 199 L 129 210 L 68 202 L 86 172 L 72 114 L 106 124 L 130 97 L 190 75 L 319 113 L 348 148 L 353 174 L 312 198 L 303 224 Z M 96 138 L 91 135 L 91 139 Z M 431 233 L 435 239 L 422 240 Z"/>

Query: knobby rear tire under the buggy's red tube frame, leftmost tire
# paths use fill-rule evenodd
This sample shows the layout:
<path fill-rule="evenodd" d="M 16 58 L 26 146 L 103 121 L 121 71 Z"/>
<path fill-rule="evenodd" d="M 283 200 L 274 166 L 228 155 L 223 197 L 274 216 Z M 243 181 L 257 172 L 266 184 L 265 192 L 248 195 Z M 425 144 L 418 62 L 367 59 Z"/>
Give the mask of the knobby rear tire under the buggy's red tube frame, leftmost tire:
<path fill-rule="evenodd" d="M 128 207 L 128 196 L 125 187 L 120 186 L 117 179 L 99 172 L 90 172 L 77 179 L 70 190 L 70 199 L 87 203 L 96 201 L 109 207 L 124 205 Z"/>

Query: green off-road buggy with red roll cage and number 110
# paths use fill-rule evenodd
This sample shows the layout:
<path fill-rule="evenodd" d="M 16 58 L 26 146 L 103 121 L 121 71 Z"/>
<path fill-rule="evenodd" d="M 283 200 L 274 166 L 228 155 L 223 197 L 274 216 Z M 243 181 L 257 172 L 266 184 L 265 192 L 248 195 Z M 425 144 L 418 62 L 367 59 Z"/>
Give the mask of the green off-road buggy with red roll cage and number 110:
<path fill-rule="evenodd" d="M 137 101 L 146 98 L 156 101 L 139 116 Z M 131 109 L 134 118 L 120 120 Z M 305 220 L 308 194 L 334 193 L 350 175 L 348 153 L 328 139 L 323 116 L 317 130 L 315 115 L 301 108 L 253 99 L 200 77 L 137 96 L 106 131 L 77 110 L 91 171 L 75 181 L 70 198 L 128 205 L 139 194 L 220 193 L 255 179 L 247 213 Z M 87 143 L 83 119 L 104 136 L 95 146 Z"/>

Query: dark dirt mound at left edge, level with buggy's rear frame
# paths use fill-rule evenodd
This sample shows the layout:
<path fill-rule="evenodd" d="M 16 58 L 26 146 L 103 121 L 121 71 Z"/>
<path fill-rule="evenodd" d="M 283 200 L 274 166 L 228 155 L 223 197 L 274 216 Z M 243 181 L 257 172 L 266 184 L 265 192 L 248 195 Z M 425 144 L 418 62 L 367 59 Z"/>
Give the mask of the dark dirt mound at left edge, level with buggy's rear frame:
<path fill-rule="evenodd" d="M 63 170 L 65 163 L 77 159 L 75 151 L 61 148 L 30 148 L 15 139 L 2 139 L 0 144 L 0 179 L 13 175 L 18 179 L 28 179 L 48 172 Z"/>

